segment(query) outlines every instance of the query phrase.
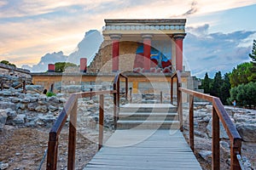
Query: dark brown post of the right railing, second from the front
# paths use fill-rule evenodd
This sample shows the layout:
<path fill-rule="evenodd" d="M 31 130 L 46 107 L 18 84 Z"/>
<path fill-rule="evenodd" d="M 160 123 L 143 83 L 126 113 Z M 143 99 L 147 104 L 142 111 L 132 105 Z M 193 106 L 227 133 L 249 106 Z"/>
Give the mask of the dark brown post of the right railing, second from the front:
<path fill-rule="evenodd" d="M 220 169 L 219 161 L 219 119 L 215 107 L 212 107 L 212 170 Z"/>

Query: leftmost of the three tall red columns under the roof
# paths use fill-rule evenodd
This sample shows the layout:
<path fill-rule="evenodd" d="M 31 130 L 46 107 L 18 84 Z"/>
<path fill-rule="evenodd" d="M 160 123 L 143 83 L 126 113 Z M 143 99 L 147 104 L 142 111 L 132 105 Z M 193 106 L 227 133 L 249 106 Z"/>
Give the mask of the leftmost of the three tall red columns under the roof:
<path fill-rule="evenodd" d="M 110 35 L 112 39 L 112 72 L 119 71 L 119 40 L 120 35 Z"/>

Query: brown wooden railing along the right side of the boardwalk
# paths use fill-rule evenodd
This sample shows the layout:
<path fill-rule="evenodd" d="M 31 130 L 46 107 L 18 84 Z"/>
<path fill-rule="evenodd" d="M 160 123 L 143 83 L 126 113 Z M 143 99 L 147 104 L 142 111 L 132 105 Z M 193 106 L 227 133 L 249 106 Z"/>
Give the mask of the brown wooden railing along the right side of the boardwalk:
<path fill-rule="evenodd" d="M 220 169 L 219 158 L 219 120 L 222 122 L 226 133 L 230 138 L 230 169 L 241 169 L 237 156 L 241 155 L 241 136 L 236 130 L 235 125 L 230 120 L 230 116 L 224 109 L 224 105 L 217 97 L 202 94 L 181 88 L 181 77 L 179 71 L 172 75 L 171 79 L 171 102 L 173 104 L 173 79 L 177 80 L 177 111 L 179 121 L 181 123 L 181 130 L 183 130 L 183 110 L 182 110 L 182 92 L 189 94 L 189 144 L 194 151 L 194 98 L 205 99 L 212 102 L 212 169 Z"/>

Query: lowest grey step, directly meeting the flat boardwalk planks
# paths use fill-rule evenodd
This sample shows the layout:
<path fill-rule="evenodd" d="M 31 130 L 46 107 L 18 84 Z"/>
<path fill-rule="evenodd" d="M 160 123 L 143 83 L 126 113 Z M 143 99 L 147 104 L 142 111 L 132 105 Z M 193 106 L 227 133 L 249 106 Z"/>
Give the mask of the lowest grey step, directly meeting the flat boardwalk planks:
<path fill-rule="evenodd" d="M 118 129 L 178 129 L 178 121 L 134 121 L 134 120 L 119 120 L 117 122 Z"/>

